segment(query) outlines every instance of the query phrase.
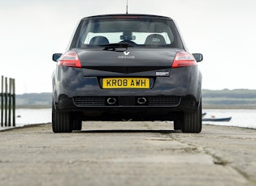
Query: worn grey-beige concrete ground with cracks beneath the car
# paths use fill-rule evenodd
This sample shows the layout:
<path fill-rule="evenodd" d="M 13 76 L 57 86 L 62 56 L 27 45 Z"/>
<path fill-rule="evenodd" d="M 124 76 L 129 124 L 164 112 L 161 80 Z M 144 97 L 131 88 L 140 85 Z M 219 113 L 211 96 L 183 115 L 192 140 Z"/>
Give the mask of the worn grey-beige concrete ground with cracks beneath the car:
<path fill-rule="evenodd" d="M 171 122 L 83 123 L 0 132 L 0 185 L 256 185 L 255 129 Z"/>

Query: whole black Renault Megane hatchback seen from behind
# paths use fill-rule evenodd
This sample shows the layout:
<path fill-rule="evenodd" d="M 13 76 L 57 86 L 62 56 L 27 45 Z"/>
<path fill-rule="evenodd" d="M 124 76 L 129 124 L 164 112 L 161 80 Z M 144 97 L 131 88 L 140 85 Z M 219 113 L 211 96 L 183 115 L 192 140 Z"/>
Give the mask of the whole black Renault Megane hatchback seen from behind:
<path fill-rule="evenodd" d="M 202 129 L 202 74 L 175 22 L 157 15 L 98 15 L 80 20 L 66 53 L 54 53 L 52 128 L 82 120 L 173 120 Z"/>

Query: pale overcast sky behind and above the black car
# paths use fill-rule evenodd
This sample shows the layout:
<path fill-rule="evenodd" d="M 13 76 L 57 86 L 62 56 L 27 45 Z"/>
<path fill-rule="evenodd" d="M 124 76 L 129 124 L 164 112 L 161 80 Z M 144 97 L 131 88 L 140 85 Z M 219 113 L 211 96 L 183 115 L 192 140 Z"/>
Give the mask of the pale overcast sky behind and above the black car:
<path fill-rule="evenodd" d="M 199 63 L 203 89 L 256 89 L 255 0 L 129 0 L 128 13 L 176 20 Z M 63 53 L 86 16 L 125 13 L 126 0 L 0 2 L 0 75 L 15 78 L 16 94 L 51 92 L 53 53 Z"/>

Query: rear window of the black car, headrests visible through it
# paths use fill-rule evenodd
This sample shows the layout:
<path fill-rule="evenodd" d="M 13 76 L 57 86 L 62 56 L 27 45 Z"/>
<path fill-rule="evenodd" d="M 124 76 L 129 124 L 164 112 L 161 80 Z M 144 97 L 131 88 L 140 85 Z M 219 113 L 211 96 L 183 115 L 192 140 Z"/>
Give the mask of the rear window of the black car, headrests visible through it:
<path fill-rule="evenodd" d="M 158 19 L 92 19 L 76 32 L 75 48 L 95 47 L 119 42 L 137 47 L 183 48 L 174 23 Z"/>

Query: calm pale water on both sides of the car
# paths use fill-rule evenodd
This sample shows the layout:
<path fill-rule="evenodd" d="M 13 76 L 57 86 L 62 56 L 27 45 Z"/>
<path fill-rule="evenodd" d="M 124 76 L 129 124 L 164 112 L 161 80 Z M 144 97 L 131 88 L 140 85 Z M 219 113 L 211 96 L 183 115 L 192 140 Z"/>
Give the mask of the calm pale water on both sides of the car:
<path fill-rule="evenodd" d="M 256 129 L 255 109 L 205 109 L 205 117 L 228 117 L 228 122 L 203 121 L 203 124 L 239 126 Z M 44 109 L 16 109 L 16 126 L 33 125 L 51 122 L 51 108 Z M 3 129 L 0 127 L 0 129 Z"/>

